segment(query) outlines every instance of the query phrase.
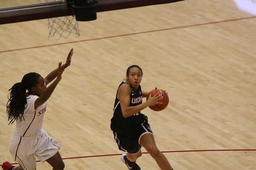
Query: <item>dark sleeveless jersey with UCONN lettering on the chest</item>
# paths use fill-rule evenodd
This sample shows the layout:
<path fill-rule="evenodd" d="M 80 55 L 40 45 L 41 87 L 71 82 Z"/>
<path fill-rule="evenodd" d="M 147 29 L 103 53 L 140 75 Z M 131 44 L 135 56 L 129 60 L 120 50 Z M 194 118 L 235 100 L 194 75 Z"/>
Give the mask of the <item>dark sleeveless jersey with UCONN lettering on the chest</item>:
<path fill-rule="evenodd" d="M 119 87 L 127 83 L 127 81 L 123 81 Z M 128 84 L 128 83 L 127 83 Z M 118 91 L 117 89 L 117 91 Z M 131 88 L 131 94 L 130 94 L 130 105 L 129 106 L 137 106 L 139 104 L 142 104 L 142 90 L 139 85 L 138 90 L 134 91 L 133 88 Z M 116 93 L 116 100 L 114 102 L 114 109 L 113 109 L 113 117 L 111 119 L 111 130 L 118 132 L 119 134 L 129 135 L 129 136 L 137 136 L 138 135 L 138 127 L 141 126 L 141 124 L 144 121 L 145 115 L 141 114 L 140 112 L 135 113 L 132 116 L 129 116 L 127 118 L 123 117 L 120 101 L 117 98 Z"/>

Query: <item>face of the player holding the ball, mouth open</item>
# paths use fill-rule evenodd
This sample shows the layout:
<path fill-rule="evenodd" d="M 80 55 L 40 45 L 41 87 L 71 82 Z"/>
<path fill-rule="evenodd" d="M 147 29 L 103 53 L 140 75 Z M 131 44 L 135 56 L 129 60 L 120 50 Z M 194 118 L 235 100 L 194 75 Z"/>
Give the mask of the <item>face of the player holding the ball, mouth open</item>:
<path fill-rule="evenodd" d="M 127 80 L 129 81 L 130 86 L 132 86 L 134 89 L 137 89 L 140 81 L 142 80 L 141 70 L 137 67 L 131 68 Z"/>

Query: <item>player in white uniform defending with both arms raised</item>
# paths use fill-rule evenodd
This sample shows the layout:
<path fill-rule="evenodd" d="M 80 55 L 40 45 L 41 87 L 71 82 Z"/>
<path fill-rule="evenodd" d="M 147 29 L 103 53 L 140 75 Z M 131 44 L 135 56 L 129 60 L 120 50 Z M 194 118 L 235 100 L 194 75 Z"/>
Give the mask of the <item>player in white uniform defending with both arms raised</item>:
<path fill-rule="evenodd" d="M 2 169 L 36 170 L 35 156 L 41 162 L 47 161 L 54 170 L 64 169 L 65 165 L 58 152 L 62 144 L 48 136 L 42 129 L 42 124 L 47 108 L 46 101 L 62 79 L 64 69 L 70 65 L 72 55 L 73 49 L 69 52 L 66 63 L 62 65 L 62 62 L 59 62 L 59 67 L 46 78 L 37 73 L 28 73 L 24 75 L 21 83 L 14 84 L 9 90 L 10 98 L 7 103 L 9 124 L 16 120 L 9 151 L 20 166 L 15 167 L 9 162 L 4 162 Z M 46 87 L 52 80 L 53 83 Z"/>

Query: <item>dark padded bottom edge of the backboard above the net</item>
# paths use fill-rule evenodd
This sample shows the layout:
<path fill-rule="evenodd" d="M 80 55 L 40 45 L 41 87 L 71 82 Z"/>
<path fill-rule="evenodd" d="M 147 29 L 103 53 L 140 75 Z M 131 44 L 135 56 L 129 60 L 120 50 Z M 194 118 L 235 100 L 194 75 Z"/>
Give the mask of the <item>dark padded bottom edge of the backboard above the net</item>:
<path fill-rule="evenodd" d="M 74 4 L 74 1 L 85 0 L 45 1 L 40 2 L 40 0 L 12 0 L 1 2 L 0 24 L 74 15 L 74 10 L 72 9 L 71 5 Z M 140 6 L 167 4 L 177 1 L 182 0 L 98 0 L 96 9 L 97 12 L 103 12 Z"/>

